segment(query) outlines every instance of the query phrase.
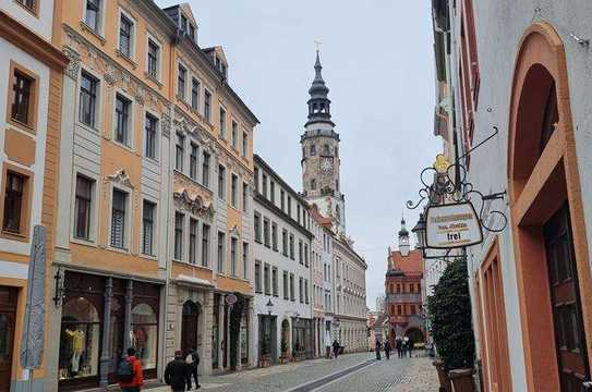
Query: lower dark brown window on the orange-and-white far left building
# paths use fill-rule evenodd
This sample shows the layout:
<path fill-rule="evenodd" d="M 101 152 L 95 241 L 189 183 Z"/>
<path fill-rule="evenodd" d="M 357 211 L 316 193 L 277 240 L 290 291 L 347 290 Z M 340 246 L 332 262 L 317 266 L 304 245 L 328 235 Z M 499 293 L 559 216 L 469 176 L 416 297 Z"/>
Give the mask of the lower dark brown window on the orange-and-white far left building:
<path fill-rule="evenodd" d="M 24 222 L 22 221 L 23 205 L 25 204 L 26 177 L 14 172 L 7 172 L 7 186 L 4 194 L 4 219 L 2 230 L 24 234 Z"/>

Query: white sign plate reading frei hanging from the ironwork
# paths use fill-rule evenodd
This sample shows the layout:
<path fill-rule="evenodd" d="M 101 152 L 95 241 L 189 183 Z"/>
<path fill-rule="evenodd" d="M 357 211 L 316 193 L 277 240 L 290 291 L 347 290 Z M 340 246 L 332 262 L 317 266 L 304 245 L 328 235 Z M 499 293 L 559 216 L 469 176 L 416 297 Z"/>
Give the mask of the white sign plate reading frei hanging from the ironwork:
<path fill-rule="evenodd" d="M 470 201 L 431 206 L 425 216 L 425 246 L 451 249 L 483 242 L 481 222 Z"/>

